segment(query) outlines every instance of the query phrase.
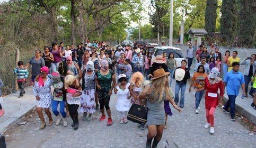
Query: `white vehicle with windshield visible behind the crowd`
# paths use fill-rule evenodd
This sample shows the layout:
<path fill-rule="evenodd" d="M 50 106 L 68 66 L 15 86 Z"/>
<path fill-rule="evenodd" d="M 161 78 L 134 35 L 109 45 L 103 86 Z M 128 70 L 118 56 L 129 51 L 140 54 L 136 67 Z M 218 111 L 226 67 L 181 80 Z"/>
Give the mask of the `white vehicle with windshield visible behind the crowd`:
<path fill-rule="evenodd" d="M 174 59 L 177 62 L 177 66 L 181 66 L 181 60 L 184 60 L 183 55 L 181 53 L 181 50 L 179 48 L 170 47 L 170 46 L 158 46 L 154 47 L 154 54 L 153 56 L 162 55 L 163 53 L 166 53 L 167 56 L 169 56 L 169 53 L 172 52 L 174 54 Z"/>

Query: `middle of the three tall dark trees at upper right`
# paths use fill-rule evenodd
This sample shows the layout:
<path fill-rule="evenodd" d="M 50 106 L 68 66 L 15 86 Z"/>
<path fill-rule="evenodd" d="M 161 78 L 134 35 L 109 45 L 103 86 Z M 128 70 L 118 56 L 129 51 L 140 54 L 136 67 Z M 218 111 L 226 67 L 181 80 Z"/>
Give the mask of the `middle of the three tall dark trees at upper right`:
<path fill-rule="evenodd" d="M 236 0 L 223 0 L 222 17 L 220 17 L 220 38 L 227 44 L 232 45 L 237 25 Z"/>

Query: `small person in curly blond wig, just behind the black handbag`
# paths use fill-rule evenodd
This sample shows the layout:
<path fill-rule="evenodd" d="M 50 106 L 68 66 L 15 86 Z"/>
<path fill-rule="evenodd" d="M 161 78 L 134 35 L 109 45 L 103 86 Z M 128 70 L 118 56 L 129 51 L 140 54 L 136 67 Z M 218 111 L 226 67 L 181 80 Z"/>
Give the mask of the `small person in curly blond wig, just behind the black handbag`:
<path fill-rule="evenodd" d="M 141 88 L 142 83 L 143 83 L 143 74 L 139 71 L 135 72 L 133 76 L 131 76 L 131 81 L 130 81 L 131 86 L 129 87 L 130 94 L 131 94 L 131 103 L 133 104 L 143 105 L 142 100 L 138 99 L 140 92 L 142 92 L 142 88 Z M 143 124 L 140 124 L 139 127 L 140 129 L 145 128 Z"/>

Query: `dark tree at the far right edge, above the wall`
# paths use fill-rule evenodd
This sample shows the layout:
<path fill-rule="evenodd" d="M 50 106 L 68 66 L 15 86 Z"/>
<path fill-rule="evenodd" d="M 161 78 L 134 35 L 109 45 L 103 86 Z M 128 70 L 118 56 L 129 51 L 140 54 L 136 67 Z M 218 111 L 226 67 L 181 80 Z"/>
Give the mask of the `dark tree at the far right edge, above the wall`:
<path fill-rule="evenodd" d="M 252 47 L 256 37 L 256 3 L 255 0 L 240 0 L 239 4 L 241 9 L 238 45 Z"/>

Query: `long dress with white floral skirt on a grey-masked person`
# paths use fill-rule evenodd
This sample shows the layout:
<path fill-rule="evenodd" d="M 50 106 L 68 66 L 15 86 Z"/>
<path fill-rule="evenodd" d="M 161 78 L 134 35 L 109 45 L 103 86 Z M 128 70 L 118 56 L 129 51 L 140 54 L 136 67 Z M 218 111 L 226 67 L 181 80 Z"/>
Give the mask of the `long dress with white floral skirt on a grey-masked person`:
<path fill-rule="evenodd" d="M 92 76 L 84 75 L 83 83 L 85 84 L 80 98 L 80 112 L 93 114 L 95 113 L 95 73 L 93 72 Z"/>

